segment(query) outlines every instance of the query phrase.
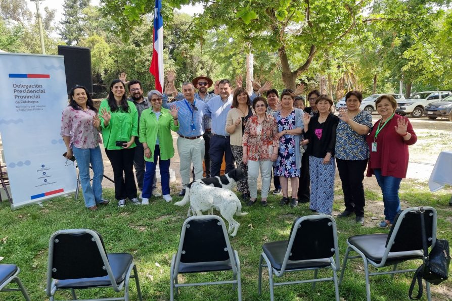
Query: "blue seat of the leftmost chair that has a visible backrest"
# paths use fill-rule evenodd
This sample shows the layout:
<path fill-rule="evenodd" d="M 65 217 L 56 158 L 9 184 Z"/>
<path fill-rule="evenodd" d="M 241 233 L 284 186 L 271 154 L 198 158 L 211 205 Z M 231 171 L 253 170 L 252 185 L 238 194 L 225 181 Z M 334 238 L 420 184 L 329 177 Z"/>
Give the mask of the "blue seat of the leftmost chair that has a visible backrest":
<path fill-rule="evenodd" d="M 113 272 L 116 283 L 124 281 L 127 276 L 127 272 L 130 265 L 133 262 L 133 257 L 127 253 L 112 253 L 107 254 L 108 262 L 110 263 L 111 270 Z M 107 276 L 95 277 L 95 278 L 79 278 L 79 279 L 67 279 L 57 280 L 55 282 L 57 288 L 89 288 L 97 286 L 110 286 L 111 281 Z"/>

